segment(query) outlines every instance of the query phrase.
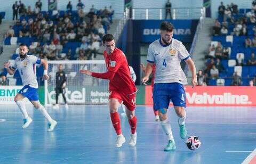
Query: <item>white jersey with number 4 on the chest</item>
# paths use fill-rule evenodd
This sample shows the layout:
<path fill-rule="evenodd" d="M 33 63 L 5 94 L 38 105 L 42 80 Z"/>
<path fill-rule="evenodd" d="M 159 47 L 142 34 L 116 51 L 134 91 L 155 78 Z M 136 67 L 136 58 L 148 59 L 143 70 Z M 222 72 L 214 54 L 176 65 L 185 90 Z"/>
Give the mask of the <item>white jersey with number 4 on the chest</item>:
<path fill-rule="evenodd" d="M 147 61 L 156 64 L 154 83 L 188 84 L 180 62 L 187 60 L 189 56 L 186 47 L 177 39 L 172 38 L 172 43 L 166 46 L 161 43 L 161 39 L 151 43 Z"/>

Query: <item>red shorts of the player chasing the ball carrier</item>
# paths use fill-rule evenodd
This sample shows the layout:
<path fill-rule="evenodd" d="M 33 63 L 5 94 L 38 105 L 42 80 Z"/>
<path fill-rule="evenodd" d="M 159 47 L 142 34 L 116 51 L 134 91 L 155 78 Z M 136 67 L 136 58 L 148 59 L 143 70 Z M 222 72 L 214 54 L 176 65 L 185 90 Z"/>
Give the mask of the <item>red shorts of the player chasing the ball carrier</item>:
<path fill-rule="evenodd" d="M 119 103 L 122 103 L 129 109 L 130 111 L 135 110 L 135 100 L 136 94 L 132 95 L 124 95 L 122 93 L 116 91 L 110 91 L 110 95 L 108 99 L 117 99 Z"/>

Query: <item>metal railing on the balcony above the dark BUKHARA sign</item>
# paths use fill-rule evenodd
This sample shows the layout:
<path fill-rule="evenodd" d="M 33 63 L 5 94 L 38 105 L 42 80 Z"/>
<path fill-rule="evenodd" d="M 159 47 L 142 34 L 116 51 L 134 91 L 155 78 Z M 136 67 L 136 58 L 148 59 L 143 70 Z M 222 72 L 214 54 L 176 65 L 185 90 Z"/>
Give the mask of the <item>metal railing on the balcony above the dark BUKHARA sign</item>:
<path fill-rule="evenodd" d="M 181 7 L 172 8 L 172 19 L 199 19 L 202 16 L 200 7 Z M 170 14 L 167 14 L 167 19 L 170 19 Z M 134 8 L 132 9 L 131 19 L 165 19 L 165 8 Z"/>

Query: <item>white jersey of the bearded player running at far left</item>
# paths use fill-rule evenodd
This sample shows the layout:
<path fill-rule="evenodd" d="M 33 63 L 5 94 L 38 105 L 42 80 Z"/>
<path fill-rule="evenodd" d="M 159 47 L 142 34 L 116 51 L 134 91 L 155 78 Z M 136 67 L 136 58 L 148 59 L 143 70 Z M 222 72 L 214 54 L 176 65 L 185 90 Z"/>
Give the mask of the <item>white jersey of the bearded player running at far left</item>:
<path fill-rule="evenodd" d="M 15 59 L 13 69 L 19 70 L 23 85 L 29 85 L 30 87 L 38 88 L 35 74 L 35 64 L 41 64 L 41 59 L 34 55 L 27 55 L 23 60 L 21 60 L 20 57 Z"/>

